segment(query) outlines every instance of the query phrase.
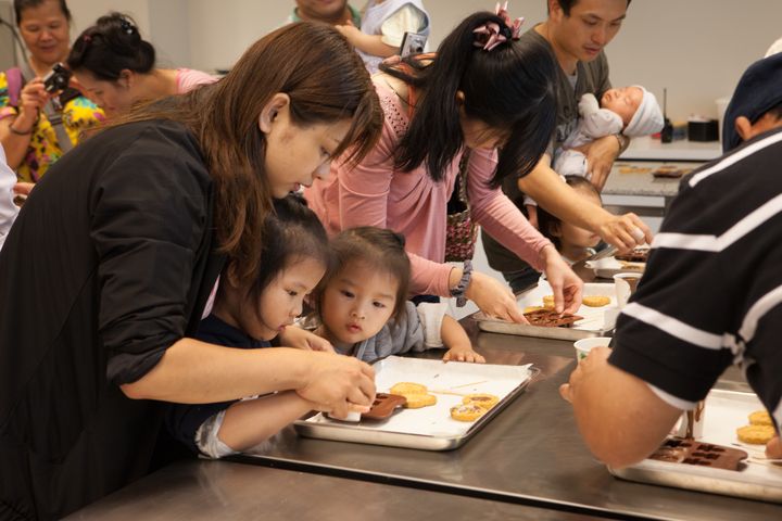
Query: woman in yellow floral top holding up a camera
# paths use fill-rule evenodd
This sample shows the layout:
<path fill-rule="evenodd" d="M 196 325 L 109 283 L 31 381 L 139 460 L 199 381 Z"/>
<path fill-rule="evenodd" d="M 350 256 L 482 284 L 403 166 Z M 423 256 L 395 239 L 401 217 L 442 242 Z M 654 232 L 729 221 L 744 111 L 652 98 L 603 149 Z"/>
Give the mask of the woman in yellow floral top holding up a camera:
<path fill-rule="evenodd" d="M 103 114 L 77 90 L 59 88 L 67 85 L 66 75 L 52 74 L 70 51 L 65 0 L 14 0 L 14 13 L 29 58 L 0 72 L 0 142 L 18 179 L 36 182 Z"/>

